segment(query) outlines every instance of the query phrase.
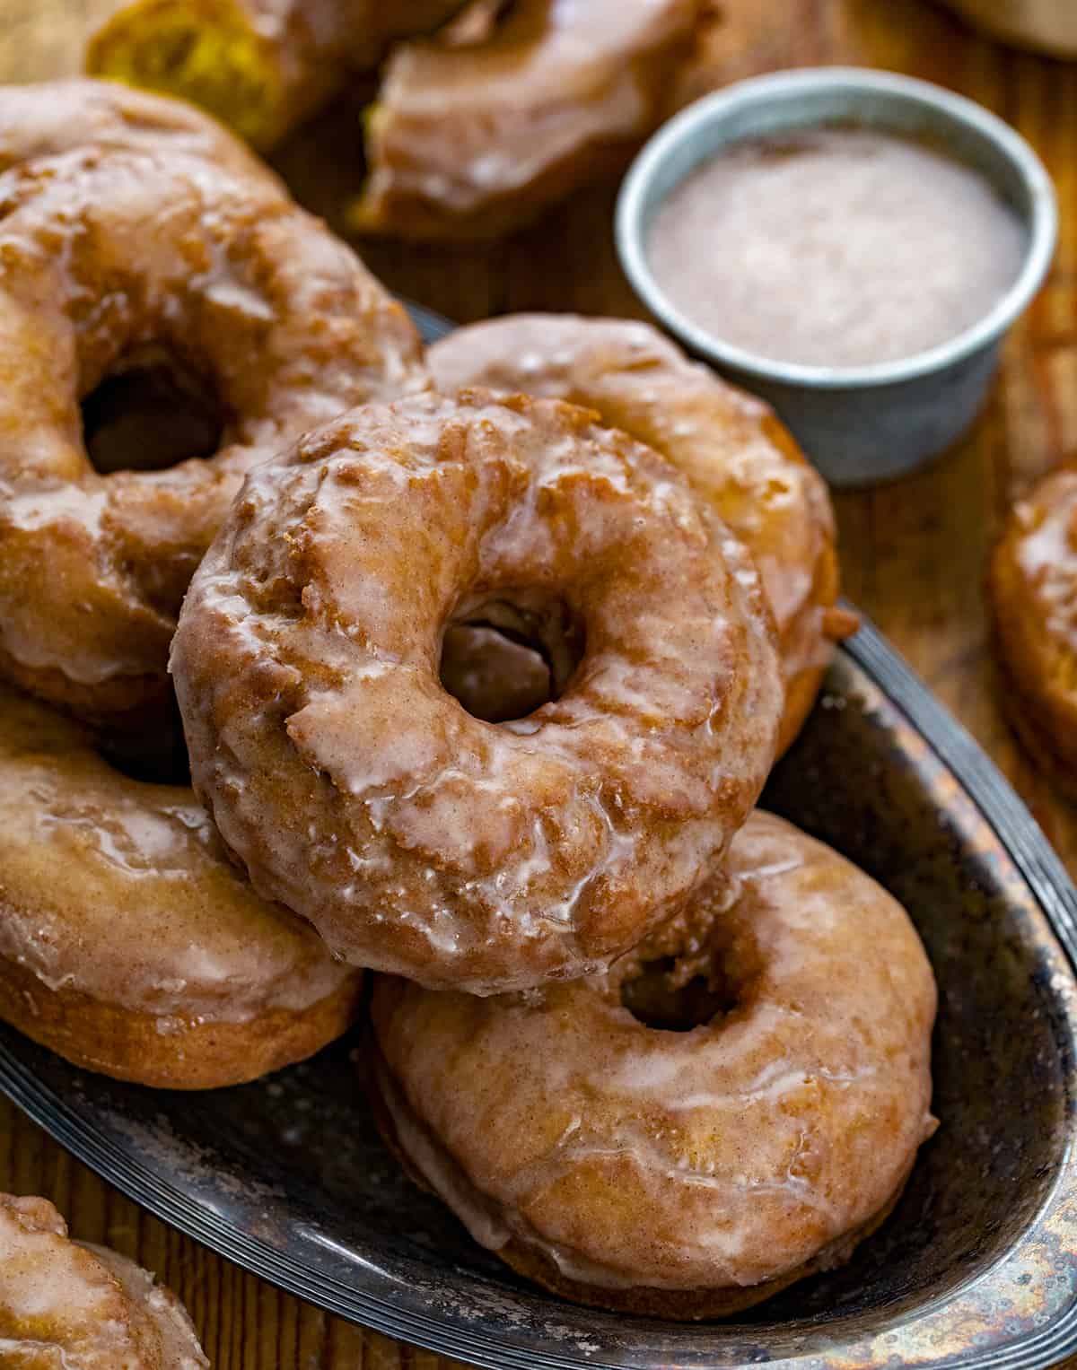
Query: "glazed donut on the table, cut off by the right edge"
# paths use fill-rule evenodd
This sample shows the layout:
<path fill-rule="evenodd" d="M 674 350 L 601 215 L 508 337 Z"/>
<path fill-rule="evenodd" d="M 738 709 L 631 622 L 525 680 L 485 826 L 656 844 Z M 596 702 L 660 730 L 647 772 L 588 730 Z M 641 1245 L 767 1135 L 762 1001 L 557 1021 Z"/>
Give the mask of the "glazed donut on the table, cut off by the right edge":
<path fill-rule="evenodd" d="M 1037 763 L 1077 799 L 1077 458 L 1014 506 L 988 589 L 1007 714 Z"/>

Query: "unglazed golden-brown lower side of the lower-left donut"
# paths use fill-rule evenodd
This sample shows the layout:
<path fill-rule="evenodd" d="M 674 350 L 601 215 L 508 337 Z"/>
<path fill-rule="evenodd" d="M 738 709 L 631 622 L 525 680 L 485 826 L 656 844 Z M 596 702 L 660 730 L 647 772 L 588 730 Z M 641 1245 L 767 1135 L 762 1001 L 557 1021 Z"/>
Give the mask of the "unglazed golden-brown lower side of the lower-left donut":
<path fill-rule="evenodd" d="M 271 1008 L 249 1022 L 162 1019 L 49 989 L 0 956 L 0 1018 L 73 1066 L 153 1089 L 225 1089 L 306 1060 L 351 1028 L 360 1000 L 356 975 L 301 1011 Z"/>

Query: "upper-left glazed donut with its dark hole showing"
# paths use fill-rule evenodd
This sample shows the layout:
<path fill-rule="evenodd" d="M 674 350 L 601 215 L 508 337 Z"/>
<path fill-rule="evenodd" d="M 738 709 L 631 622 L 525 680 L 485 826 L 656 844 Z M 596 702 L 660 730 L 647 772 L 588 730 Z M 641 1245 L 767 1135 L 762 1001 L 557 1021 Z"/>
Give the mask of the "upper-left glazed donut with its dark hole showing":
<path fill-rule="evenodd" d="M 103 475 L 79 400 L 162 352 L 214 392 L 221 447 Z M 428 384 L 400 306 L 301 210 L 200 158 L 101 151 L 0 177 L 0 674 L 93 722 L 166 697 L 180 601 L 247 469 Z"/>

